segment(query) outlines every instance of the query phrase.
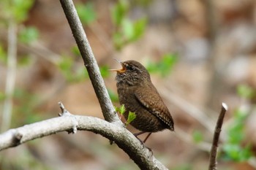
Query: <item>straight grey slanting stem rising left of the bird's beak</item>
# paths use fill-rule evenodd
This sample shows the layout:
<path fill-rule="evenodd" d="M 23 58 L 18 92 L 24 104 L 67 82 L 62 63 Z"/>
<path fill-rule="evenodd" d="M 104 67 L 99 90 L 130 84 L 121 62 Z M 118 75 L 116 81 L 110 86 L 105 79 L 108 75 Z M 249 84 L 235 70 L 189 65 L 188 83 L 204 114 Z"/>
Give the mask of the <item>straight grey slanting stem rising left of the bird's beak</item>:
<path fill-rule="evenodd" d="M 78 13 L 75 9 L 75 5 L 72 0 L 60 0 L 61 6 L 64 10 L 66 18 L 69 22 L 69 26 L 72 30 L 72 34 L 75 38 L 75 42 L 78 44 L 78 48 L 83 58 L 84 65 L 89 73 L 91 83 L 94 87 L 94 91 L 99 100 L 100 107 L 102 108 L 102 114 L 105 120 L 109 122 L 116 122 L 121 125 L 121 121 L 118 119 L 118 115 L 110 101 L 108 90 L 105 88 L 104 81 L 99 72 L 99 66 L 94 58 L 89 41 L 86 37 L 86 33 L 83 30 L 82 23 L 78 18 Z"/>

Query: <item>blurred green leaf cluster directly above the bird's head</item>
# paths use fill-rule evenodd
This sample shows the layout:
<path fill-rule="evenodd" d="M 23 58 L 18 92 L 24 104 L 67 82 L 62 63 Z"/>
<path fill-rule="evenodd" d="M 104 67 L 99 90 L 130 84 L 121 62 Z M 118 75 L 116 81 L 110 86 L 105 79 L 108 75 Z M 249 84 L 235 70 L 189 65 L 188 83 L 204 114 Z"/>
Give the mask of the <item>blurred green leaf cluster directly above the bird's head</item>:
<path fill-rule="evenodd" d="M 111 9 L 111 18 L 115 31 L 113 32 L 113 45 L 116 50 L 135 42 L 144 33 L 146 29 L 146 18 L 140 18 L 132 21 L 128 18 L 130 2 L 127 0 L 119 0 Z"/>

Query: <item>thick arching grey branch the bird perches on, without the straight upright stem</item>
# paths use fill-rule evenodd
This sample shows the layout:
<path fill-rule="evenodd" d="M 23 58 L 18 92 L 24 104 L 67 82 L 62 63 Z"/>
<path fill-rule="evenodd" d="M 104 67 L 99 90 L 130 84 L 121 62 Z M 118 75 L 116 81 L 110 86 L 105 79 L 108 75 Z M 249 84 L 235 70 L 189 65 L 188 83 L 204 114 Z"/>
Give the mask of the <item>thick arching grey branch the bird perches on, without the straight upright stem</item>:
<path fill-rule="evenodd" d="M 61 131 L 76 133 L 77 130 L 91 131 L 115 142 L 140 169 L 166 169 L 152 152 L 144 147 L 136 137 L 123 126 L 90 116 L 72 115 L 60 104 L 60 117 L 43 120 L 20 128 L 13 128 L 0 134 L 0 150 L 15 147 Z"/>

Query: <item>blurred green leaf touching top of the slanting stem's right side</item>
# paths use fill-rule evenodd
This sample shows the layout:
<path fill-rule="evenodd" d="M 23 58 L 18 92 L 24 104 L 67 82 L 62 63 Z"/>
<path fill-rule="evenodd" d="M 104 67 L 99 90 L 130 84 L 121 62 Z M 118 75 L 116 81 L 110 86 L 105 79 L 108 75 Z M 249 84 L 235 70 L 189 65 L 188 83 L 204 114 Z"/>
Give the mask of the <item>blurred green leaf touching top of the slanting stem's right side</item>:
<path fill-rule="evenodd" d="M 97 19 L 96 12 L 94 11 L 94 4 L 91 2 L 86 4 L 76 4 L 75 6 L 82 23 L 89 25 Z"/>

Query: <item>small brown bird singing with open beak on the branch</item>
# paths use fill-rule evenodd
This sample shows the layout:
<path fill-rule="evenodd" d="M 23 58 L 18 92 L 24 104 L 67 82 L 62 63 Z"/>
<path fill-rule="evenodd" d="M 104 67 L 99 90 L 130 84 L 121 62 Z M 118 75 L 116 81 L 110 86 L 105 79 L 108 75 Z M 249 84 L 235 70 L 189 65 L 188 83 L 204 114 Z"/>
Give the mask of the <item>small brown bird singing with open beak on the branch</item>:
<path fill-rule="evenodd" d="M 120 104 L 124 104 L 126 112 L 124 117 L 127 119 L 129 111 L 135 112 L 135 120 L 130 123 L 140 130 L 134 134 L 140 134 L 169 129 L 174 131 L 173 118 L 165 106 L 164 101 L 159 96 L 157 89 L 151 82 L 150 75 L 146 68 L 138 61 L 118 61 L 122 69 L 111 69 L 116 73 L 116 86 Z M 148 139 L 144 139 L 146 142 Z"/>

